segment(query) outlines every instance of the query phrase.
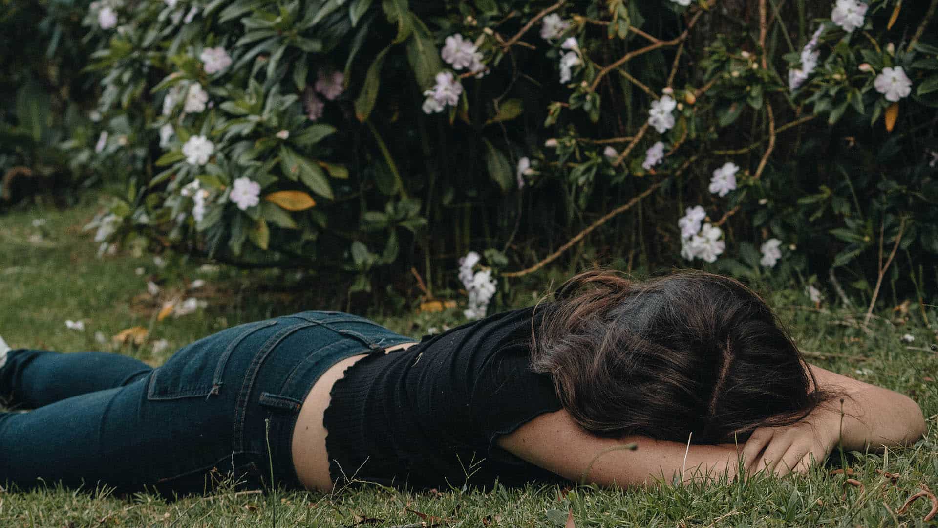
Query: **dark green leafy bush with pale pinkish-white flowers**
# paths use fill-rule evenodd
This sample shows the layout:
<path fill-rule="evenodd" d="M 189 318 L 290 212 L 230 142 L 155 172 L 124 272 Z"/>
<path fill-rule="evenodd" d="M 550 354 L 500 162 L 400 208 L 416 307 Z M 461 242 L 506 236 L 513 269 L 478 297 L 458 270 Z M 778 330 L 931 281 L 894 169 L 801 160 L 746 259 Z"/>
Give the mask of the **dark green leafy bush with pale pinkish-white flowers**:
<path fill-rule="evenodd" d="M 95 159 L 120 133 L 143 167 L 113 237 L 369 289 L 474 247 L 537 269 L 585 227 L 628 267 L 869 293 L 856 256 L 938 253 L 936 2 L 793 2 L 100 0 Z"/>

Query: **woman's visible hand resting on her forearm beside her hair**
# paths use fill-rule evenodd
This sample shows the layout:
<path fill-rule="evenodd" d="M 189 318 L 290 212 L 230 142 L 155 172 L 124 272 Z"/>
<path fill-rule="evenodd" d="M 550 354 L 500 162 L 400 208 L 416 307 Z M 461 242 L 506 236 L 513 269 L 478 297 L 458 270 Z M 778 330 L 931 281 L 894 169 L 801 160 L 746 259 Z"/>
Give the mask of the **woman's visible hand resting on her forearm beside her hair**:
<path fill-rule="evenodd" d="M 817 409 L 791 426 L 753 431 L 743 446 L 743 464 L 747 474 L 805 473 L 812 461 L 823 462 L 839 442 L 840 414 Z"/>

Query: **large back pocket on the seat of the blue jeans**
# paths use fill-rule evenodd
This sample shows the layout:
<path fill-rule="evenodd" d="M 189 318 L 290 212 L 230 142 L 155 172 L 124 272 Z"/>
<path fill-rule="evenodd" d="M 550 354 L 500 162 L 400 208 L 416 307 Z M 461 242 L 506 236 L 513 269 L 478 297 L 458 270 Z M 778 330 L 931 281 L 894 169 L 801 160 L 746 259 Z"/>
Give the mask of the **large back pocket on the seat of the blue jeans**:
<path fill-rule="evenodd" d="M 149 400 L 207 397 L 221 385 L 232 351 L 250 334 L 277 324 L 270 319 L 234 326 L 179 349 L 153 370 L 147 387 Z"/>

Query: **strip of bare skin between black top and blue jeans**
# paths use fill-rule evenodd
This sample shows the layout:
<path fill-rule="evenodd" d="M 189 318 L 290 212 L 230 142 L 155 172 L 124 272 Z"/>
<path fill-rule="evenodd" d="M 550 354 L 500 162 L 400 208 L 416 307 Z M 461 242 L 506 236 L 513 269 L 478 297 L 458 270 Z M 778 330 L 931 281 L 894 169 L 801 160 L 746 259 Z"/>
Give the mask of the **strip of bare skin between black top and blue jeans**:
<path fill-rule="evenodd" d="M 401 343 L 385 351 L 407 349 L 412 345 L 416 345 L 416 342 Z M 330 366 L 319 380 L 316 380 L 309 396 L 306 396 L 306 400 L 303 401 L 299 416 L 296 418 L 292 450 L 296 475 L 306 489 L 331 491 L 333 488 L 334 483 L 329 477 L 329 455 L 325 450 L 326 430 L 323 415 L 329 406 L 329 393 L 332 391 L 332 385 L 341 380 L 346 368 L 355 365 L 358 360 L 367 355 L 352 356 Z"/>

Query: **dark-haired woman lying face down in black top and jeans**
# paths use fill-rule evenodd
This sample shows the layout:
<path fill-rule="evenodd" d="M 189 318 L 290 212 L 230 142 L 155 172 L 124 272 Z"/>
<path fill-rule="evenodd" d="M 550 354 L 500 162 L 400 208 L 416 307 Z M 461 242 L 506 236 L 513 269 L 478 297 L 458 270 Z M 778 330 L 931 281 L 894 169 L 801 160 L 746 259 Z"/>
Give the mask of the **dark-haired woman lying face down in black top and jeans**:
<path fill-rule="evenodd" d="M 31 410 L 0 412 L 0 483 L 21 489 L 204 492 L 219 474 L 321 491 L 628 487 L 805 471 L 838 445 L 925 431 L 911 399 L 804 363 L 755 293 L 703 272 L 583 273 L 553 303 L 419 343 L 304 312 L 210 335 L 156 369 L 0 351 L 0 395 Z"/>

